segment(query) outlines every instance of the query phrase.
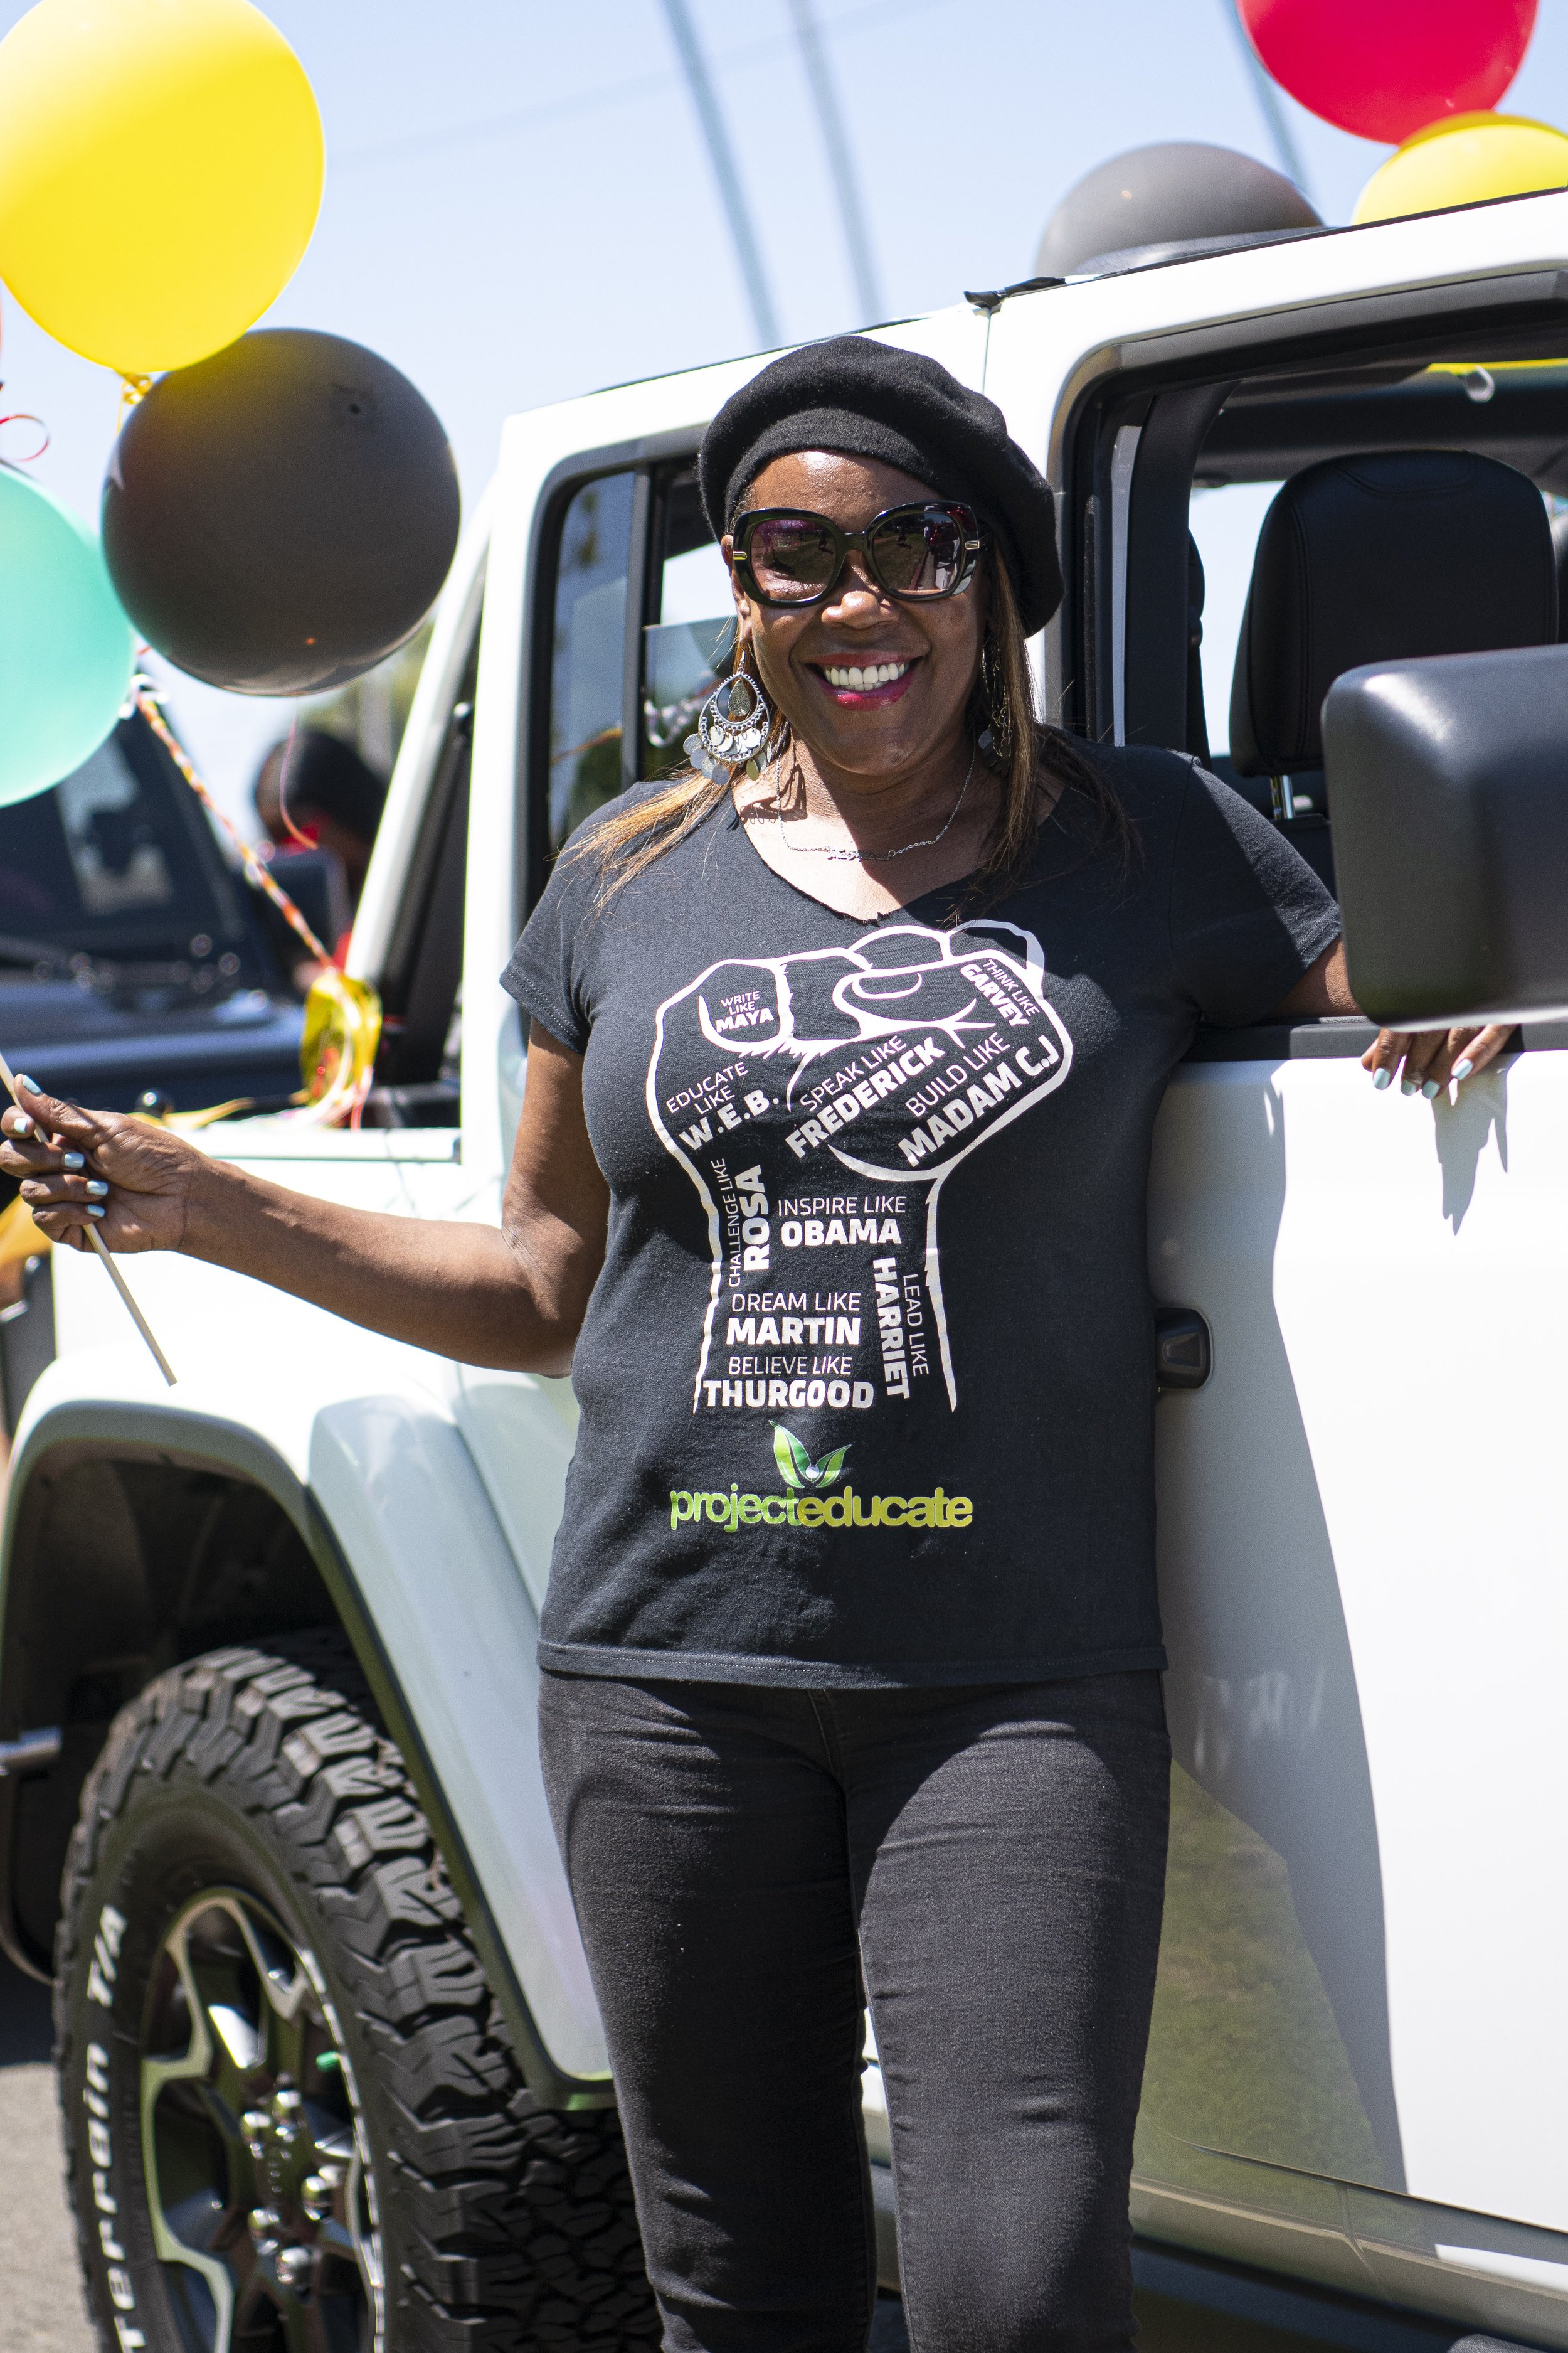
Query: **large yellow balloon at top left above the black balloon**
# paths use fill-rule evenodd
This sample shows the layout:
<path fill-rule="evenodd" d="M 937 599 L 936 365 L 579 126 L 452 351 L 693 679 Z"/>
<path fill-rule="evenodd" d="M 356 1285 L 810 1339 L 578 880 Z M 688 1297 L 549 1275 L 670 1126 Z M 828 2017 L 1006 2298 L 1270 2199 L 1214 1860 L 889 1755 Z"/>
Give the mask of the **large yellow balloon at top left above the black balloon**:
<path fill-rule="evenodd" d="M 324 162 L 306 68 L 249 0 L 40 0 L 0 42 L 0 278 L 129 376 L 261 318 Z"/>

